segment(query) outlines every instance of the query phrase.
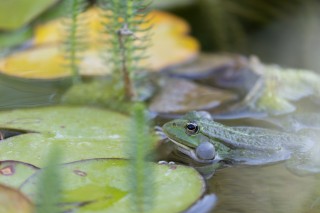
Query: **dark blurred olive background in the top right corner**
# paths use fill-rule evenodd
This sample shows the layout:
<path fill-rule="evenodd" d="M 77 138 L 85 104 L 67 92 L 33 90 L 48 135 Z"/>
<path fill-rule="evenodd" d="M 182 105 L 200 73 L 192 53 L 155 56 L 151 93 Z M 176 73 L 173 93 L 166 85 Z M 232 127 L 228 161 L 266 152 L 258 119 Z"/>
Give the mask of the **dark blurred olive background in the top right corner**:
<path fill-rule="evenodd" d="M 318 0 L 196 0 L 170 9 L 192 26 L 203 51 L 257 55 L 319 72 Z"/>

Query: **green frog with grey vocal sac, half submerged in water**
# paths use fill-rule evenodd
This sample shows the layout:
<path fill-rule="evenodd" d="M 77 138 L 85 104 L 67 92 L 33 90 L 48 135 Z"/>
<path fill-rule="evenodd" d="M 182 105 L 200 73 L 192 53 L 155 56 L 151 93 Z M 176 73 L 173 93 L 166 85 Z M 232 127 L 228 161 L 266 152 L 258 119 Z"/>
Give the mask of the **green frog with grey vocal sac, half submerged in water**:
<path fill-rule="evenodd" d="M 202 164 L 262 165 L 291 159 L 293 155 L 297 160 L 314 146 L 314 141 L 306 135 L 225 126 L 212 120 L 205 111 L 189 112 L 164 124 L 162 130 L 180 152 Z"/>

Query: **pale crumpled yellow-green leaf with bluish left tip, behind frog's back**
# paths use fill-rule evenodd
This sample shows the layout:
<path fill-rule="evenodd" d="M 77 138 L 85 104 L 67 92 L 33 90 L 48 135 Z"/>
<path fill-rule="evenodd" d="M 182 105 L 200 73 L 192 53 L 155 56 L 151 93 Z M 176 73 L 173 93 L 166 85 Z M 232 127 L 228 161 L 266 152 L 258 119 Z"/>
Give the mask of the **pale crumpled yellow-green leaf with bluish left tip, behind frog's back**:
<path fill-rule="evenodd" d="M 256 58 L 250 59 L 246 66 L 251 75 L 258 78 L 251 83 L 250 90 L 245 89 L 247 94 L 240 102 L 229 106 L 216 117 L 261 118 L 292 113 L 299 109 L 298 101 L 301 100 L 309 101 L 305 106 L 319 104 L 319 74 L 310 70 L 264 65 Z"/>

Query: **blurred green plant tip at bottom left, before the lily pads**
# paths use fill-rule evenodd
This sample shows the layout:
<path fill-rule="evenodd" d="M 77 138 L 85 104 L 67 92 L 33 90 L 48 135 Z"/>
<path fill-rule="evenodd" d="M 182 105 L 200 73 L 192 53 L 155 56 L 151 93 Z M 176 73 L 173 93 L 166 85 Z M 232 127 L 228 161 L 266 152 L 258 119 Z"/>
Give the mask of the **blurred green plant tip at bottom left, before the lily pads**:
<path fill-rule="evenodd" d="M 35 213 L 57 213 L 61 199 L 61 184 L 58 164 L 61 152 L 53 147 L 47 159 L 47 167 L 41 171 L 40 181 L 37 185 Z"/>

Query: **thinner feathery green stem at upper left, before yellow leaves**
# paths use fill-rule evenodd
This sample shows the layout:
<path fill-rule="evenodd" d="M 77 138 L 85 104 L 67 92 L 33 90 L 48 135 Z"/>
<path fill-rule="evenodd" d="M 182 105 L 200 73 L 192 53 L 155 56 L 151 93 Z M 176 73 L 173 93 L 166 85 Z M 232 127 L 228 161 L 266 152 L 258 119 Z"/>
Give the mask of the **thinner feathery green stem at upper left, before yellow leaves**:
<path fill-rule="evenodd" d="M 65 19 L 65 40 L 63 41 L 63 51 L 66 59 L 66 67 L 71 70 L 73 83 L 81 82 L 79 74 L 79 61 L 82 51 L 86 48 L 85 40 L 85 20 L 79 15 L 87 6 L 86 0 L 64 0 L 66 1 Z"/>

